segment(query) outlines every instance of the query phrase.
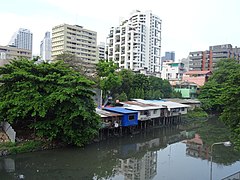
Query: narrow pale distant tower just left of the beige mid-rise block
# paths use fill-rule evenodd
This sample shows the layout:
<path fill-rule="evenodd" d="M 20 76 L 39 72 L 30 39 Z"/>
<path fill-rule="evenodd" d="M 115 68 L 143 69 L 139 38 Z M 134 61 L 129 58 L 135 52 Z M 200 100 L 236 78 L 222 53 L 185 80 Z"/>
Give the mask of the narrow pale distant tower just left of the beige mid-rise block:
<path fill-rule="evenodd" d="M 51 60 L 52 39 L 50 32 L 46 32 L 40 44 L 40 56 L 43 61 Z"/>

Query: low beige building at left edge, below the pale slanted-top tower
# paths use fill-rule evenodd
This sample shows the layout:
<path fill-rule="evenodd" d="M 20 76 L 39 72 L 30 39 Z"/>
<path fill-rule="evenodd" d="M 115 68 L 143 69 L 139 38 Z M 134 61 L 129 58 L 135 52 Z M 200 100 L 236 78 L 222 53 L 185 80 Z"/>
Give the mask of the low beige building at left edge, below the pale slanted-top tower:
<path fill-rule="evenodd" d="M 31 59 L 32 51 L 11 46 L 0 46 L 0 66 L 9 63 L 12 59 L 18 58 Z"/>

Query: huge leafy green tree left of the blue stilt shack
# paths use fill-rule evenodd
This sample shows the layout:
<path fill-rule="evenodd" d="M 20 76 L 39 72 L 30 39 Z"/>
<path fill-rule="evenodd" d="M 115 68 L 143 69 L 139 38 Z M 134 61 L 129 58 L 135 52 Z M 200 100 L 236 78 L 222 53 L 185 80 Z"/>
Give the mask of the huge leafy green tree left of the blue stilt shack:
<path fill-rule="evenodd" d="M 14 60 L 0 67 L 0 83 L 0 121 L 78 146 L 98 133 L 93 82 L 62 61 Z"/>

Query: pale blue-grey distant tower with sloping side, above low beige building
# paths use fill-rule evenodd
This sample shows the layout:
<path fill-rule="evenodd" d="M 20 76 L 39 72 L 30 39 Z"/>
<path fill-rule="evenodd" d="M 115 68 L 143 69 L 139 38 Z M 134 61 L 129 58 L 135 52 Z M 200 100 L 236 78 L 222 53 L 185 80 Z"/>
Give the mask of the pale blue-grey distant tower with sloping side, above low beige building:
<path fill-rule="evenodd" d="M 28 29 L 20 28 L 15 32 L 9 42 L 10 46 L 19 49 L 27 49 L 32 51 L 33 34 Z"/>

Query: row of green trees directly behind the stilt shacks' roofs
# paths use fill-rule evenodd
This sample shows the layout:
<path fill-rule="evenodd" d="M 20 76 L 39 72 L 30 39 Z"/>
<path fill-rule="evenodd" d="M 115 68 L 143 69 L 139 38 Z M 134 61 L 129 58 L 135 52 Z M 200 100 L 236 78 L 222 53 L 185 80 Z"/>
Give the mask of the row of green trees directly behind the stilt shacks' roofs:
<path fill-rule="evenodd" d="M 116 99 L 159 99 L 173 97 L 173 91 L 167 80 L 144 74 L 135 74 L 131 70 L 118 70 L 113 61 L 100 60 L 97 64 L 100 76 L 100 88 Z"/>

